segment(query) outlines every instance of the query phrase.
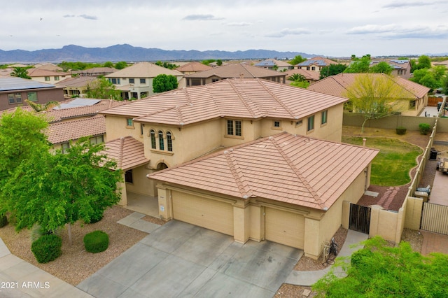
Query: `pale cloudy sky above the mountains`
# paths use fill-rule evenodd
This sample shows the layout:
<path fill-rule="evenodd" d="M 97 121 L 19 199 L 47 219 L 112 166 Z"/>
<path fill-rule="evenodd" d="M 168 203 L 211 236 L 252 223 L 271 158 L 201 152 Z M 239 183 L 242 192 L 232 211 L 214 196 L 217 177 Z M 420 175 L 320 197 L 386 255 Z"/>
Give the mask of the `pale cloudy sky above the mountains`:
<path fill-rule="evenodd" d="M 448 1 L 431 0 L 11 0 L 1 8 L 0 50 L 128 43 L 334 57 L 437 54 L 448 52 L 447 17 Z"/>

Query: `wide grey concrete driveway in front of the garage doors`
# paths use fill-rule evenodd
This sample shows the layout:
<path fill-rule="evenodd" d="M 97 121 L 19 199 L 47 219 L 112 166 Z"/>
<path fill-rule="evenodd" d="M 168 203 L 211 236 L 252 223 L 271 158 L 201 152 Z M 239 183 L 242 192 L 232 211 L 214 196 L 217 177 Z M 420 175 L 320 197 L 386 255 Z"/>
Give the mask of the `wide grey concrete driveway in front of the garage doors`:
<path fill-rule="evenodd" d="M 172 220 L 77 285 L 94 297 L 272 297 L 302 250 Z"/>

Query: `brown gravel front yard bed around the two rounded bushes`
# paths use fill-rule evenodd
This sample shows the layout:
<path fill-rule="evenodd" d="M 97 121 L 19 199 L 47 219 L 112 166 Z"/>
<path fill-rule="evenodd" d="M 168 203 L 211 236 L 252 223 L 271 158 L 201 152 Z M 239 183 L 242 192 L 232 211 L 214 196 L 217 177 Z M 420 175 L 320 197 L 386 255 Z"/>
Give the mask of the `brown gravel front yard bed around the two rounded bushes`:
<path fill-rule="evenodd" d="M 104 218 L 99 222 L 89 225 L 81 225 L 80 222 L 76 222 L 71 227 L 71 245 L 69 245 L 66 227 L 61 229 L 57 234 L 62 237 L 62 255 L 46 264 L 39 264 L 31 253 L 32 232 L 30 230 L 22 230 L 17 233 L 14 226 L 9 224 L 0 229 L 0 237 L 13 255 L 71 285 L 78 285 L 148 235 L 145 232 L 117 223 L 118 220 L 133 212 L 120 206 L 113 206 L 104 211 Z M 158 224 L 163 222 L 159 222 L 160 219 L 151 218 L 148 215 L 143 219 Z M 85 234 L 95 230 L 102 230 L 109 234 L 109 248 L 102 253 L 87 253 L 83 238 Z"/>

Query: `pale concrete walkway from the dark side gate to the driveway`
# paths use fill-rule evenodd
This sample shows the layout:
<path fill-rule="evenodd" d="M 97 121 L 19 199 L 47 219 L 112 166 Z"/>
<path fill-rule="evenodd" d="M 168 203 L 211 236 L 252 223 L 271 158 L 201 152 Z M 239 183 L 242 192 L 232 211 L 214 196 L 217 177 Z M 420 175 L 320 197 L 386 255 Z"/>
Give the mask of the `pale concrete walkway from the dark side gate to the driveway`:
<path fill-rule="evenodd" d="M 351 248 L 350 246 L 356 243 L 360 243 L 360 241 L 367 240 L 369 235 L 363 234 L 360 232 L 352 231 L 349 229 L 349 232 L 347 233 L 344 245 L 342 246 L 341 250 L 339 251 L 338 257 L 347 257 L 351 255 L 356 250 L 362 248 L 362 246 L 357 246 L 355 248 Z M 293 270 L 288 278 L 286 278 L 285 283 L 289 283 L 291 285 L 305 285 L 305 286 L 311 286 L 316 281 L 321 279 L 325 274 L 330 271 L 331 267 L 327 267 L 323 270 L 318 271 L 295 271 Z"/>

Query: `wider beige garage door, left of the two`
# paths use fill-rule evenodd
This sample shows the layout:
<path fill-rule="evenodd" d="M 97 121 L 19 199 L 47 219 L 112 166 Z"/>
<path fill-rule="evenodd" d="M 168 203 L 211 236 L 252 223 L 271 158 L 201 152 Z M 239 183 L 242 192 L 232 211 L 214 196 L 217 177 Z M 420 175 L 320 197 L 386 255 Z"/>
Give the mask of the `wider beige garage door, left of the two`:
<path fill-rule="evenodd" d="M 193 225 L 233 236 L 233 206 L 223 201 L 172 192 L 173 217 Z"/>

